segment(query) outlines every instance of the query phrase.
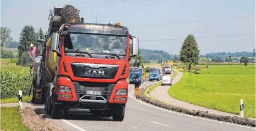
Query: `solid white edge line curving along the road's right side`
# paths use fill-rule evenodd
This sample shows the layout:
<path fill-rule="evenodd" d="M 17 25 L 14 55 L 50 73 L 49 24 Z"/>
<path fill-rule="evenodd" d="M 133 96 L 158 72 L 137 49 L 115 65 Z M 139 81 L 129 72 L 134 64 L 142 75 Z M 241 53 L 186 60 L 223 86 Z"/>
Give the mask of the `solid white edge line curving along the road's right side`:
<path fill-rule="evenodd" d="M 155 83 L 154 83 L 155 84 Z M 148 85 L 152 85 L 152 84 L 148 84 Z M 148 86 L 146 85 L 146 86 Z M 132 99 L 135 99 L 131 96 L 131 93 L 134 92 L 134 90 L 132 90 L 130 93 L 129 93 L 129 97 L 131 97 Z M 135 99 L 137 100 L 137 99 Z M 153 106 L 151 104 L 147 104 L 147 103 L 144 103 L 144 102 L 141 102 L 140 100 L 137 100 L 137 102 L 140 102 L 144 105 L 147 105 L 147 106 L 151 106 L 152 108 L 155 108 L 155 109 L 159 109 L 159 110 L 163 110 L 163 111 L 166 111 L 166 112 L 171 112 L 173 114 L 177 114 L 177 115 L 182 115 L 182 116 L 187 116 L 187 117 L 193 117 L 193 118 L 198 118 L 198 119 L 201 119 L 201 120 L 206 120 L 206 121 L 212 121 L 212 122 L 218 122 L 218 123 L 222 123 L 222 124 L 229 124 L 229 125 L 232 125 L 232 126 L 237 126 L 237 127 L 243 127 L 243 128 L 249 128 L 249 129 L 255 129 L 253 127 L 248 127 L 248 126 L 241 126 L 239 124 L 232 124 L 232 123 L 227 123 L 227 122 L 221 122 L 221 121 L 215 121 L 215 120 L 210 120 L 210 119 L 206 119 L 206 118 L 201 118 L 201 117 L 196 117 L 196 116 L 190 116 L 190 115 L 186 115 L 186 114 L 180 114 L 178 112 L 174 112 L 174 111 L 170 111 L 170 110 L 167 110 L 167 109 L 163 109 L 163 108 L 157 108 L 156 106 Z"/>

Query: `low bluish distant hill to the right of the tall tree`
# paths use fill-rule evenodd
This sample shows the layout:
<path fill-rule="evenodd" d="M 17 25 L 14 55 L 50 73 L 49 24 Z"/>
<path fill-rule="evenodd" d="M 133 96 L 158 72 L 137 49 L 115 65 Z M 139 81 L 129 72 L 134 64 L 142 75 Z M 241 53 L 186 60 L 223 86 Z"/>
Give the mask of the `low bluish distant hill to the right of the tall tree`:
<path fill-rule="evenodd" d="M 208 58 L 215 58 L 215 56 L 219 56 L 221 58 L 226 58 L 226 57 L 229 57 L 229 56 L 232 56 L 232 57 L 242 57 L 242 56 L 253 57 L 253 52 L 248 52 L 248 51 L 218 52 L 218 53 L 208 53 L 207 55 L 200 55 L 200 57 L 208 57 Z"/>

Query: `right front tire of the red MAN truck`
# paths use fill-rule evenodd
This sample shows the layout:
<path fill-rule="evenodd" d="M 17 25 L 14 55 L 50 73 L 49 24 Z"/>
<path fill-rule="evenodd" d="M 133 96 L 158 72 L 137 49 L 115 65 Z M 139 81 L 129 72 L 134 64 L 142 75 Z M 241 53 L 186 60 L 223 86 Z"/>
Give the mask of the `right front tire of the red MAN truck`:
<path fill-rule="evenodd" d="M 112 118 L 114 121 L 123 121 L 125 117 L 125 107 L 115 106 L 113 109 Z"/>

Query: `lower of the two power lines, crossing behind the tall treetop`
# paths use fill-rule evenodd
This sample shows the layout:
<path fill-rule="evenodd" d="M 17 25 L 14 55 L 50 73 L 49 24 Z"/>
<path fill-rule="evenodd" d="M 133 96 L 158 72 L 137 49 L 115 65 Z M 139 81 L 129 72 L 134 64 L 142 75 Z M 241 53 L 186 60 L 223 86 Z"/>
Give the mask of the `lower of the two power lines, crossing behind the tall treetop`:
<path fill-rule="evenodd" d="M 241 33 L 241 34 L 226 34 L 226 35 L 213 35 L 213 36 L 203 36 L 203 37 L 195 37 L 196 39 L 204 39 L 204 38 L 216 38 L 216 37 L 235 37 L 240 35 L 251 35 L 255 33 Z M 168 40 L 177 40 L 177 39 L 185 39 L 185 38 L 170 38 L 170 39 L 152 39 L 152 40 L 140 40 L 140 42 L 144 41 L 168 41 Z"/>

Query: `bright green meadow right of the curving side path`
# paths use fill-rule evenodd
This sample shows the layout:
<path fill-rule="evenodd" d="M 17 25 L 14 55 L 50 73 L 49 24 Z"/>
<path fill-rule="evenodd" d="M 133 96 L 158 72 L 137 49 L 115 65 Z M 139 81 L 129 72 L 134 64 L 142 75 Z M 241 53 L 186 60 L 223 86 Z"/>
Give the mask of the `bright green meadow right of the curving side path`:
<path fill-rule="evenodd" d="M 255 118 L 255 66 L 210 66 L 200 74 L 182 72 L 182 78 L 169 88 L 173 98 L 240 115 L 240 99 L 244 100 L 245 117 Z"/>

